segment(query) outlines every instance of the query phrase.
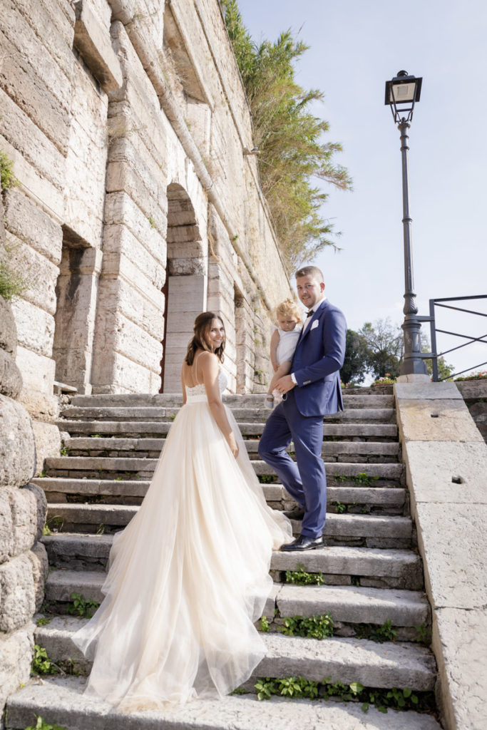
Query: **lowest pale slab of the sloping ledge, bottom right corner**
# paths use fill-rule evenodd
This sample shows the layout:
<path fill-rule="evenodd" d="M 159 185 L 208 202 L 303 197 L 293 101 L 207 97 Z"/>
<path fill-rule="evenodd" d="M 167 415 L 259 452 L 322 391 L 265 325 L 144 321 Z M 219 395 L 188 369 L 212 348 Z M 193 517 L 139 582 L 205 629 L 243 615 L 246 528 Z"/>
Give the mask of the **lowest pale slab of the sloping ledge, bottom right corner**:
<path fill-rule="evenodd" d="M 440 608 L 433 630 L 433 648 L 440 656 L 440 685 L 449 702 L 441 707 L 445 727 L 478 730 L 485 726 L 483 680 L 487 672 L 485 610 Z M 445 637 L 441 641 L 440 637 Z M 448 637 L 448 639 L 446 638 Z M 439 644 L 439 645 L 437 645 Z"/>

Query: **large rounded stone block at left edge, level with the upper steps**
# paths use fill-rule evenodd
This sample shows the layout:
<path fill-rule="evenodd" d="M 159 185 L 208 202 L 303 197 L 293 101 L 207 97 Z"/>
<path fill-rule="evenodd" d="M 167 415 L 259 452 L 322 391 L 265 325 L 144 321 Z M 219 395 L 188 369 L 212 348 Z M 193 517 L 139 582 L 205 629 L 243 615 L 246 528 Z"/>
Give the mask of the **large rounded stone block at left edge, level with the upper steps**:
<path fill-rule="evenodd" d="M 34 476 L 34 433 L 23 406 L 0 396 L 0 486 L 23 486 Z"/>

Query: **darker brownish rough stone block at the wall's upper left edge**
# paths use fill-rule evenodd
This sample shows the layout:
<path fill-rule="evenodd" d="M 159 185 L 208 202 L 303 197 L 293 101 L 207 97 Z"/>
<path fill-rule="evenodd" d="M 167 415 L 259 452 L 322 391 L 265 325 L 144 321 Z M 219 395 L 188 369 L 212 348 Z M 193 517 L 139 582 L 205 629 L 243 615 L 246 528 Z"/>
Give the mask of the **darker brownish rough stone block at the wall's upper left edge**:
<path fill-rule="evenodd" d="M 69 136 L 69 113 L 55 99 L 37 72 L 0 31 L 0 87 L 65 155 Z M 20 131 L 20 130 L 19 130 Z"/>

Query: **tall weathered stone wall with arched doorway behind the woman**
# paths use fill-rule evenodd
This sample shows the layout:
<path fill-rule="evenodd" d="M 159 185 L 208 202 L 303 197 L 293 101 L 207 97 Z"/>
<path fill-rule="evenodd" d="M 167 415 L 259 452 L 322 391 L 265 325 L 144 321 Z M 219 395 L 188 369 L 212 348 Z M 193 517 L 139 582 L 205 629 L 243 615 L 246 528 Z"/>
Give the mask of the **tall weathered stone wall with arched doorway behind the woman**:
<path fill-rule="evenodd" d="M 21 183 L 7 243 L 31 275 L 13 304 L 20 401 L 41 456 L 59 446 L 54 380 L 154 393 L 164 371 L 179 391 L 205 309 L 225 318 L 231 391 L 261 390 L 290 287 L 218 0 L 1 0 L 0 107 Z"/>

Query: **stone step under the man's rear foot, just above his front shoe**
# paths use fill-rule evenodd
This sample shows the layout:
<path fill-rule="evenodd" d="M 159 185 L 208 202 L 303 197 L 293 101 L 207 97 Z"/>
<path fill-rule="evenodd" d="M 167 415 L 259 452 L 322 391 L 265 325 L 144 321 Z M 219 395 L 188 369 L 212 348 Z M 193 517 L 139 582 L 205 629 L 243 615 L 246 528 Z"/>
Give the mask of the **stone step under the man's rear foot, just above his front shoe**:
<path fill-rule="evenodd" d="M 59 532 L 113 531 L 126 526 L 139 508 L 129 504 L 69 504 L 47 505 L 47 525 Z M 294 534 L 301 523 L 291 520 Z M 329 544 L 335 540 L 352 542 L 357 547 L 408 548 L 412 537 L 412 522 L 407 517 L 383 515 L 340 515 L 330 513 L 323 535 Z"/>

